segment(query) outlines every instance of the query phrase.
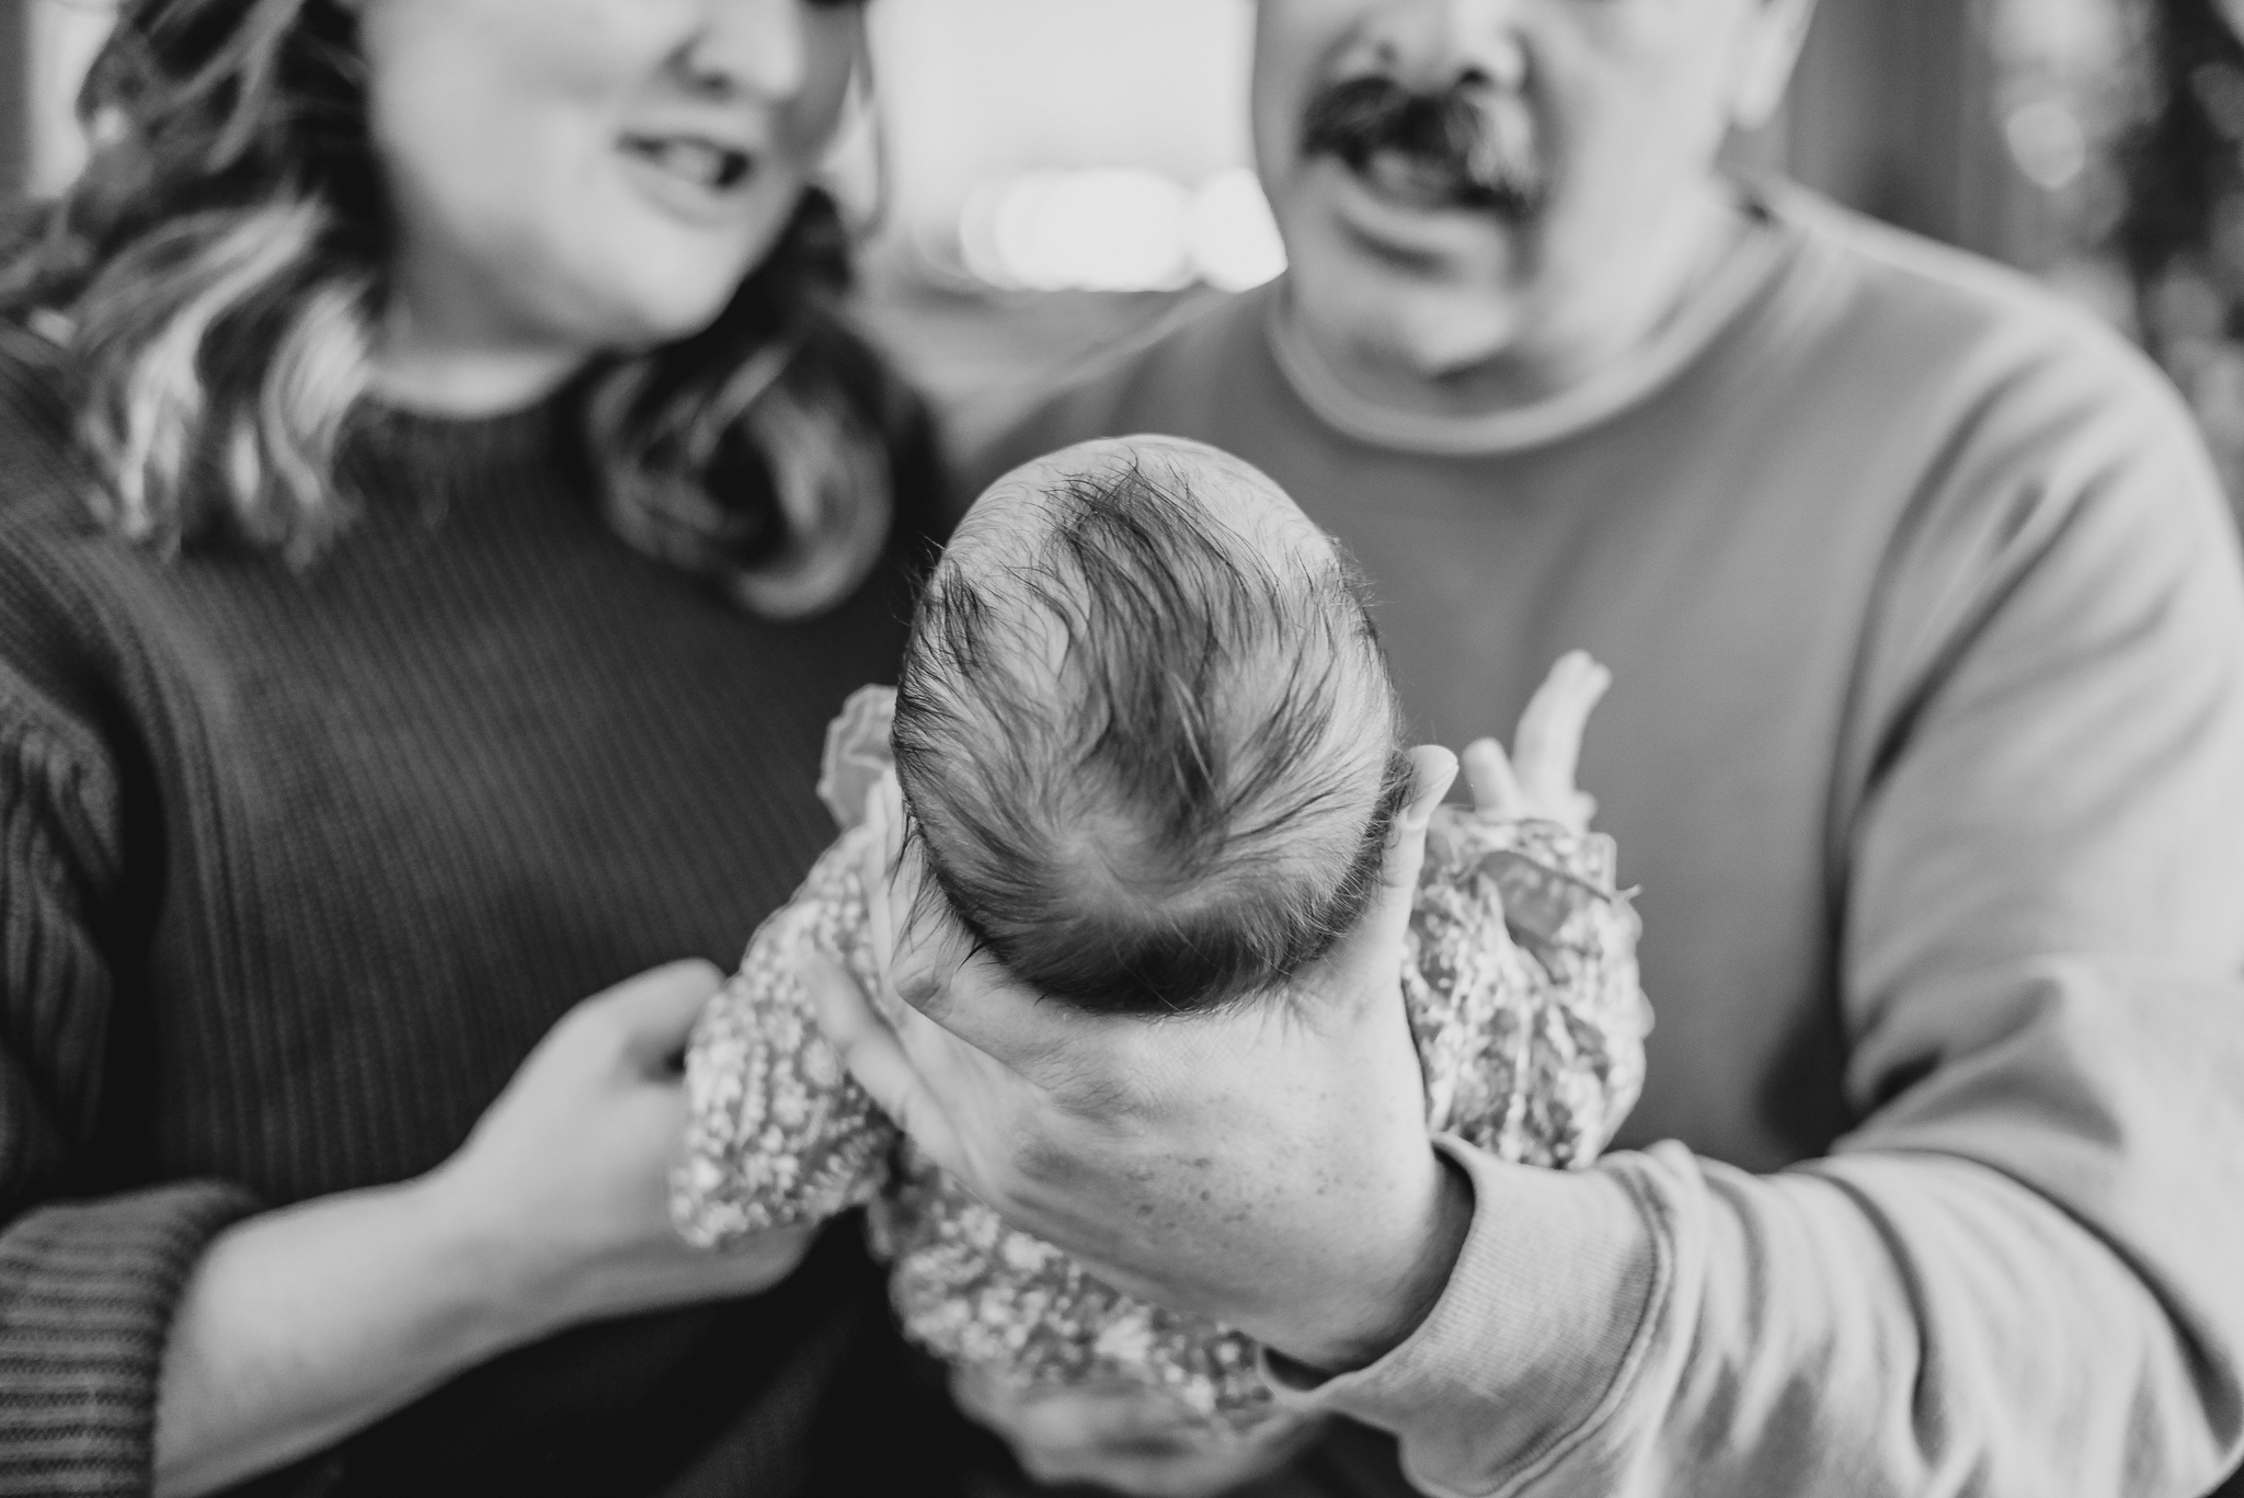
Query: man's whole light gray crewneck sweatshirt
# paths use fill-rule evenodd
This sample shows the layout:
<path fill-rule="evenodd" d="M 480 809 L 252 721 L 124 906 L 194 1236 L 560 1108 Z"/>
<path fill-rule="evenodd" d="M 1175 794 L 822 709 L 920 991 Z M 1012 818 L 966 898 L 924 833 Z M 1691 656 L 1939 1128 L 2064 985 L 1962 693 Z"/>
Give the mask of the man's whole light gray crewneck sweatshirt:
<path fill-rule="evenodd" d="M 978 476 L 1167 431 L 1362 559 L 1418 730 L 1618 685 L 1584 784 L 1658 1011 L 1589 1175 L 1456 1141 L 1447 1294 L 1288 1399 L 1432 1494 L 2186 1498 L 2244 1442 L 2244 586 L 2183 411 L 1977 261 L 1777 191 L 1600 384 L 1369 409 L 1284 283 Z"/>

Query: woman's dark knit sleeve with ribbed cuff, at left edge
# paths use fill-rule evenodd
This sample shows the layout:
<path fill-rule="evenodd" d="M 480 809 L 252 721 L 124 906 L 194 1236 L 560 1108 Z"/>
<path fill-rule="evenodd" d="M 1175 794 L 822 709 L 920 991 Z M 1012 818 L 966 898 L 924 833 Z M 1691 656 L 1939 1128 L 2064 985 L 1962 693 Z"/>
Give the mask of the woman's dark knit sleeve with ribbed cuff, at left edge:
<path fill-rule="evenodd" d="M 177 1296 L 254 1211 L 224 1184 L 92 1195 L 119 871 L 94 734 L 0 660 L 0 1494 L 146 1494 Z"/>

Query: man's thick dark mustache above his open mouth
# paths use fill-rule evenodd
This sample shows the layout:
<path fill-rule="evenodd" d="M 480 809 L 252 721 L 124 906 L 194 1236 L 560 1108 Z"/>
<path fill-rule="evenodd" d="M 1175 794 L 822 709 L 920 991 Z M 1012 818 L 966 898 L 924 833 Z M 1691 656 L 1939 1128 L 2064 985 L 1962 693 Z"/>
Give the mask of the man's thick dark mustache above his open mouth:
<path fill-rule="evenodd" d="M 1548 189 L 1533 115 L 1474 83 L 1438 94 L 1382 76 L 1331 83 L 1308 103 L 1302 153 L 1400 173 L 1411 193 L 1508 218 L 1533 213 Z"/>

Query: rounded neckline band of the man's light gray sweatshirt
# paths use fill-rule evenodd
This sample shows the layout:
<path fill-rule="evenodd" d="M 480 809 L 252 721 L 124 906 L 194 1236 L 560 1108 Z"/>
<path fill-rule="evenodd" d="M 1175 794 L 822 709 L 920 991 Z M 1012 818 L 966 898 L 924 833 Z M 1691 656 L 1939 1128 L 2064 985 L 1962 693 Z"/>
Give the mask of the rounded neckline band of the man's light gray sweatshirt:
<path fill-rule="evenodd" d="M 1293 393 L 1358 442 L 1425 456 L 1501 456 L 1548 447 L 1622 415 L 1663 391 L 1755 303 L 1793 258 L 1797 234 L 1762 184 L 1737 184 L 1746 231 L 1699 292 L 1643 348 L 1548 400 L 1486 415 L 1398 411 L 1351 391 L 1286 317 L 1286 283 L 1263 301 L 1263 337 Z"/>

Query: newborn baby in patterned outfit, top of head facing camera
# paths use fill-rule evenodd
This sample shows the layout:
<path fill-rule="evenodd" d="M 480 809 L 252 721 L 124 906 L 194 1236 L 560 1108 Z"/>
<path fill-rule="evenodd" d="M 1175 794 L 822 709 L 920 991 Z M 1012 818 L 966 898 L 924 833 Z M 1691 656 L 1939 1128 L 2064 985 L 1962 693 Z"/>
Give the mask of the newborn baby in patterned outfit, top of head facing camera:
<path fill-rule="evenodd" d="M 1403 748 L 1360 579 L 1257 469 L 1133 438 L 999 481 L 929 579 L 898 689 L 859 692 L 828 734 L 848 831 L 696 1031 L 680 1233 L 718 1246 L 873 1204 L 904 1327 L 951 1363 L 1149 1383 L 1261 1426 L 1252 1343 L 1102 1285 L 900 1145 L 799 970 L 817 948 L 882 993 L 864 811 L 893 757 L 931 892 L 1021 981 L 1149 1020 L 1299 1002 L 1281 990 L 1373 898 Z M 1555 815 L 1436 817 L 1403 990 L 1436 1130 L 1584 1166 L 1636 1100 L 1649 1020 L 1611 844 Z"/>

